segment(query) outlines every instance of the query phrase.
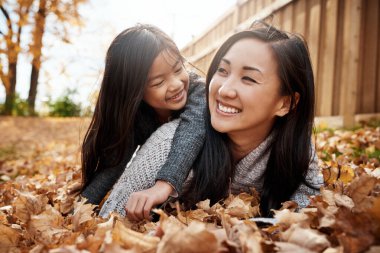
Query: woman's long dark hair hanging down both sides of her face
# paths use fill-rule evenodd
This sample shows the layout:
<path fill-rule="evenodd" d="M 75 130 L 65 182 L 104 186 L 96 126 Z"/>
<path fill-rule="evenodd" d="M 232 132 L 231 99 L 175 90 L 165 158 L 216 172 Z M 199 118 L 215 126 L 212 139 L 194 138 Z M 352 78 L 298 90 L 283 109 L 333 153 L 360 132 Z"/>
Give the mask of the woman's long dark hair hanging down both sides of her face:
<path fill-rule="evenodd" d="M 265 22 L 257 22 L 246 31 L 232 35 L 217 51 L 207 73 L 206 85 L 221 59 L 236 42 L 252 38 L 271 45 L 277 57 L 280 94 L 291 97 L 290 111 L 277 117 L 267 168 L 262 175 L 261 212 L 269 215 L 289 200 L 301 183 L 309 187 L 305 176 L 311 161 L 311 134 L 314 119 L 314 77 L 306 42 L 295 34 L 282 32 Z M 209 89 L 206 88 L 207 96 Z M 296 103 L 295 94 L 299 93 Z M 209 101 L 208 101 L 209 102 Z M 216 132 L 207 110 L 205 146 L 194 164 L 193 178 L 182 199 L 187 206 L 209 198 L 215 203 L 228 194 L 234 165 L 226 134 Z M 255 115 L 252 115 L 255 117 Z"/>

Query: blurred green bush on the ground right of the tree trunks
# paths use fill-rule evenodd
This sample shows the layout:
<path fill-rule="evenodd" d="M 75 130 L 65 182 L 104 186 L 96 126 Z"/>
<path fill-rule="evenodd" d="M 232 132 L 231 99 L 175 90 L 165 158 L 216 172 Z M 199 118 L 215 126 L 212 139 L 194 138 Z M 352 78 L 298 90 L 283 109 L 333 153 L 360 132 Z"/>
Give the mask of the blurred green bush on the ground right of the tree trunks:
<path fill-rule="evenodd" d="M 77 91 L 67 89 L 62 96 L 60 96 L 56 101 L 48 102 L 49 115 L 54 117 L 76 117 L 80 116 L 81 104 L 76 103 L 72 96 L 75 95 Z"/>

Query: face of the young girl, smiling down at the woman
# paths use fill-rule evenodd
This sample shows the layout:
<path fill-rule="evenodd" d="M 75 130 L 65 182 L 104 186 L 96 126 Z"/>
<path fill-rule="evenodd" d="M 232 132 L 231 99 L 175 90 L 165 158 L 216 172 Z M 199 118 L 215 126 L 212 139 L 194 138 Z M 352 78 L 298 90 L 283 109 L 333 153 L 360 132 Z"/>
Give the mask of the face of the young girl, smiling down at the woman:
<path fill-rule="evenodd" d="M 164 50 L 154 60 L 149 71 L 143 100 L 167 121 L 172 111 L 182 109 L 187 100 L 189 75 L 179 57 Z"/>

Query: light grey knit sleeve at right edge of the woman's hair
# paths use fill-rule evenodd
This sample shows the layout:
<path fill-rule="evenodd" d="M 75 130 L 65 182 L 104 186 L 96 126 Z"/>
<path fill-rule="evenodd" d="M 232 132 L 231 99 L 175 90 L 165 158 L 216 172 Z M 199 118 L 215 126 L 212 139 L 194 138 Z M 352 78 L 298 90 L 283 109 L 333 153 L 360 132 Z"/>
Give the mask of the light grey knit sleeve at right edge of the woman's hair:
<path fill-rule="evenodd" d="M 312 159 L 305 179 L 307 183 L 316 189 L 310 188 L 305 184 L 301 184 L 299 186 L 297 191 L 290 198 L 291 200 L 297 202 L 298 208 L 304 208 L 308 206 L 310 202 L 308 196 L 319 194 L 319 189 L 323 186 L 323 177 L 318 167 L 318 156 L 313 145 L 311 151 Z"/>

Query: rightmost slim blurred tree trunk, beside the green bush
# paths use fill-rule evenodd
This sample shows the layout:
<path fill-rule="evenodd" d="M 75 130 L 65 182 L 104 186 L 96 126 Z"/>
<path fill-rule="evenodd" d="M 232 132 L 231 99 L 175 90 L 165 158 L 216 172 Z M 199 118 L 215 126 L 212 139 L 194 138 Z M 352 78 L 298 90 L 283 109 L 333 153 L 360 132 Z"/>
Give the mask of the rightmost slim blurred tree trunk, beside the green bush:
<path fill-rule="evenodd" d="M 35 115 L 35 102 L 37 96 L 38 77 L 41 68 L 42 38 L 45 32 L 46 23 L 46 0 L 40 0 L 38 12 L 35 19 L 35 29 L 33 32 L 33 42 L 31 51 L 33 54 L 32 72 L 30 75 L 30 88 L 28 95 L 29 114 Z"/>

